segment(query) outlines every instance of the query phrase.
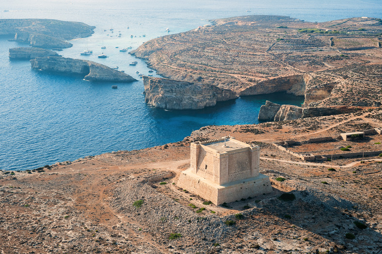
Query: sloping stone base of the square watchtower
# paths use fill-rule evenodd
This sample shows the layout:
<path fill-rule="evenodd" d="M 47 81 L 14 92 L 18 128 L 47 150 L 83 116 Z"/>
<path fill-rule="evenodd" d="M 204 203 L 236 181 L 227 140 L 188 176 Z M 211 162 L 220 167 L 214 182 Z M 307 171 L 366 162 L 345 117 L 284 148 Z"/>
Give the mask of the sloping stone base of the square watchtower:
<path fill-rule="evenodd" d="M 234 202 L 272 191 L 271 182 L 267 175 L 259 174 L 256 177 L 218 185 L 191 173 L 190 169 L 180 174 L 177 186 L 199 195 L 217 206 L 224 202 Z"/>

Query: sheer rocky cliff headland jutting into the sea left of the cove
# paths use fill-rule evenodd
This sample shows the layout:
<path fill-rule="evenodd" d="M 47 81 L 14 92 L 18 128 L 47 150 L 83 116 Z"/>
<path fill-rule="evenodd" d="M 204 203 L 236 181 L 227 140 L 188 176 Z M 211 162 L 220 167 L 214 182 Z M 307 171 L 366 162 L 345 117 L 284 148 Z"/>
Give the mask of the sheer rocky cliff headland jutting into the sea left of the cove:
<path fill-rule="evenodd" d="M 166 110 L 203 109 L 237 98 L 230 90 L 201 83 L 143 77 L 143 84 L 146 103 Z"/>

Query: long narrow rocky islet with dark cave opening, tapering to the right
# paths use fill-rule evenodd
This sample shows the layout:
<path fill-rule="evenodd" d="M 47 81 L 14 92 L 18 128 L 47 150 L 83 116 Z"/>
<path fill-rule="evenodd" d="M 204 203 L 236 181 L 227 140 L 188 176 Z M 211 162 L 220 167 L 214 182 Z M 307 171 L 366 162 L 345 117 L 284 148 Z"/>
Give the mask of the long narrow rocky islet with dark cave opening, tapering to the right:
<path fill-rule="evenodd" d="M 33 69 L 80 75 L 86 80 L 131 82 L 137 81 L 126 73 L 100 63 L 64 57 L 36 57 L 31 60 Z"/>

